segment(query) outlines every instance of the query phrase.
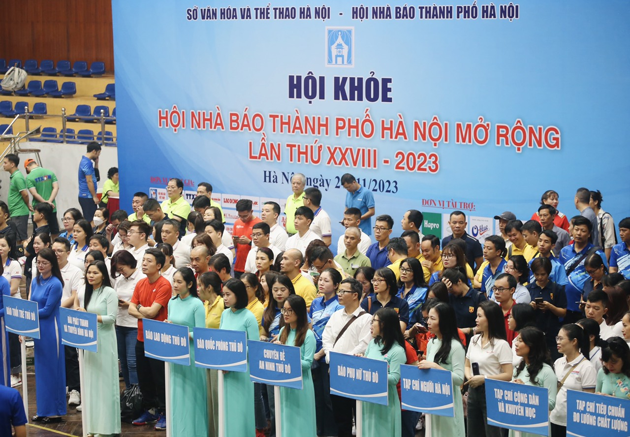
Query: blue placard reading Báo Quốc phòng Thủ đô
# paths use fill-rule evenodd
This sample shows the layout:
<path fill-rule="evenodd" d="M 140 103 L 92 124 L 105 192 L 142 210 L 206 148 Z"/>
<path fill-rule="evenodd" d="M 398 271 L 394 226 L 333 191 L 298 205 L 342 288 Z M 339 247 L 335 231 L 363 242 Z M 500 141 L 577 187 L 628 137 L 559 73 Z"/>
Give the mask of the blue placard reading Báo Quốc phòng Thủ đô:
<path fill-rule="evenodd" d="M 247 372 L 247 334 L 227 329 L 193 328 L 195 366 Z"/>

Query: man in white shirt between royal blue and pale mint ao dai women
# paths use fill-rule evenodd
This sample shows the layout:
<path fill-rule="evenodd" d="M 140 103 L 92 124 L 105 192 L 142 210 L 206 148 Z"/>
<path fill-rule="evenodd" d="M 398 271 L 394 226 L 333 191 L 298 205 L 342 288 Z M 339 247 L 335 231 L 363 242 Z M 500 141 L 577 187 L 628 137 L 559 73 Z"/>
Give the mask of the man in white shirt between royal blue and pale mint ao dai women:
<path fill-rule="evenodd" d="M 68 262 L 70 254 L 70 242 L 62 237 L 57 237 L 52 243 L 52 251 L 57 256 L 61 277 L 64 279 L 64 290 L 61 295 L 61 306 L 72 308 L 77 290 L 83 285 L 83 272 L 80 268 Z M 70 393 L 68 404 L 81 404 L 81 380 L 79 380 L 79 356 L 77 349 L 64 346 L 66 355 L 66 385 Z"/>

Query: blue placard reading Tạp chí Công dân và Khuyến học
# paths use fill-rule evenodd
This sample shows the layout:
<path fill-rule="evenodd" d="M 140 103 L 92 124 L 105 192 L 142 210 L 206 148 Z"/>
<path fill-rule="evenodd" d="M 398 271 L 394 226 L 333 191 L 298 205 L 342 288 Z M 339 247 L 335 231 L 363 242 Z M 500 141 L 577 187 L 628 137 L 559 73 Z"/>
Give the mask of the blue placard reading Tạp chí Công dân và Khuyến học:
<path fill-rule="evenodd" d="M 486 378 L 488 424 L 549 435 L 549 390 Z"/>

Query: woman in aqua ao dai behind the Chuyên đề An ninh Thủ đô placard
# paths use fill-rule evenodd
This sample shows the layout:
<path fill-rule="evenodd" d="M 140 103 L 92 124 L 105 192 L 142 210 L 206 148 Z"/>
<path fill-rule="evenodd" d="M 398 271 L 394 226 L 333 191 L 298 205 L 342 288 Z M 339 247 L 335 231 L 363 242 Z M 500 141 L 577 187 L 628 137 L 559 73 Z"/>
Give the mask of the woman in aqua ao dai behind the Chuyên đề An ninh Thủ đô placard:
<path fill-rule="evenodd" d="M 280 387 L 282 429 L 301 437 L 316 437 L 315 391 L 311 377 L 316 341 L 309 329 L 306 302 L 298 295 L 291 295 L 280 311 L 284 326 L 276 343 L 300 348 L 302 361 L 302 390 Z"/>

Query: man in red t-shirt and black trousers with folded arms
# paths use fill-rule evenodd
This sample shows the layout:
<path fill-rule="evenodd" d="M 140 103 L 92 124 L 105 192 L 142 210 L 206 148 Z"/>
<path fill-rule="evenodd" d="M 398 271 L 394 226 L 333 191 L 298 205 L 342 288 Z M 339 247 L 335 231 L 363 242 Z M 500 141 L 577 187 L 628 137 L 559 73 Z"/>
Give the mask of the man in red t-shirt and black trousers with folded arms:
<path fill-rule="evenodd" d="M 147 249 L 142 256 L 142 278 L 135 285 L 129 302 L 129 314 L 138 319 L 138 337 L 135 343 L 135 363 L 142 392 L 145 412 L 135 419 L 134 425 L 156 423 L 155 429 L 166 429 L 166 387 L 164 363 L 144 355 L 142 319 L 166 320 L 171 283 L 160 274 L 166 258 L 159 249 Z"/>

